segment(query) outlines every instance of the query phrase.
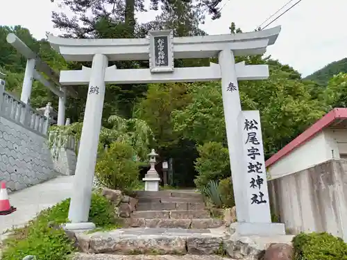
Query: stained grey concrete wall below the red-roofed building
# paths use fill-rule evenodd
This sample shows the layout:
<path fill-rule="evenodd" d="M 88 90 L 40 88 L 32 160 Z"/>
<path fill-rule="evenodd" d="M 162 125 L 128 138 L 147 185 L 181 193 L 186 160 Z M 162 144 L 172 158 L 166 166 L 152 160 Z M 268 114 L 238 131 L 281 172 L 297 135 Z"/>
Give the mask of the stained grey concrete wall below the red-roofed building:
<path fill-rule="evenodd" d="M 331 159 L 269 181 L 273 208 L 292 233 L 330 232 L 347 241 L 347 161 Z"/>

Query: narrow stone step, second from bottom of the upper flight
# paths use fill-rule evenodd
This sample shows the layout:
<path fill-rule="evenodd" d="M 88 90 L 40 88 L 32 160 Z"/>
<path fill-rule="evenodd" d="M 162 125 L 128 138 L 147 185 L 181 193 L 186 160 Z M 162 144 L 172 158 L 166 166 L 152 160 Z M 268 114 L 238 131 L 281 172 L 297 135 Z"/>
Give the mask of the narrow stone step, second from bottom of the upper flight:
<path fill-rule="evenodd" d="M 149 211 L 134 211 L 133 218 L 210 218 L 210 211 L 202 210 L 149 210 Z"/>

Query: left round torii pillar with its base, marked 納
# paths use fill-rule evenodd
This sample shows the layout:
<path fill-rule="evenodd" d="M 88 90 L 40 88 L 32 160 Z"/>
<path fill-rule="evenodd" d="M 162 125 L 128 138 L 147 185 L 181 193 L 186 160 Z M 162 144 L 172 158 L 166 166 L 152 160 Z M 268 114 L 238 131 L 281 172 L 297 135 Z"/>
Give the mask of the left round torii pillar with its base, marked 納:
<path fill-rule="evenodd" d="M 105 69 L 108 58 L 95 54 L 90 73 L 90 84 L 85 105 L 85 116 L 81 134 L 80 147 L 74 177 L 74 188 L 69 207 L 69 220 L 65 229 L 94 229 L 94 223 L 88 222 L 92 185 L 96 164 L 96 154 L 105 98 Z"/>

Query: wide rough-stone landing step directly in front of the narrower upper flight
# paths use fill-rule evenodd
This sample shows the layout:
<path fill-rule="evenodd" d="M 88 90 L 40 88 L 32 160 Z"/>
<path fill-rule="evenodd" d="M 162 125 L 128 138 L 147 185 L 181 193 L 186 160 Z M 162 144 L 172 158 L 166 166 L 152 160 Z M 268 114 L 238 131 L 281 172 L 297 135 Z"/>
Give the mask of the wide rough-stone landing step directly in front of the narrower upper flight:
<path fill-rule="evenodd" d="M 216 254 L 223 232 L 213 229 L 126 228 L 78 233 L 78 245 L 92 254 Z"/>

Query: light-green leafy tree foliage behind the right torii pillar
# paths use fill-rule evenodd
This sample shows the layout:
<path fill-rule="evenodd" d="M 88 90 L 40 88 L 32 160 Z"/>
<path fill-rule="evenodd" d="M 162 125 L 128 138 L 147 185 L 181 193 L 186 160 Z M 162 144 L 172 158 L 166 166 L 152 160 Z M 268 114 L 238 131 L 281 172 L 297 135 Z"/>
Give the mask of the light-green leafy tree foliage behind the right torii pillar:
<path fill-rule="evenodd" d="M 242 109 L 260 110 L 264 153 L 268 158 L 321 118 L 326 107 L 311 97 L 306 85 L 309 83 L 297 80 L 296 71 L 273 60 L 257 59 L 248 62 L 268 63 L 269 80 L 245 80 L 239 83 L 239 89 Z M 189 93 L 192 103 L 172 113 L 174 129 L 197 144 L 217 141 L 226 146 L 220 83 L 192 85 Z"/>

